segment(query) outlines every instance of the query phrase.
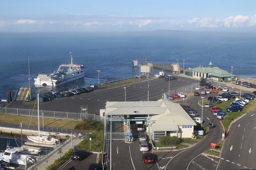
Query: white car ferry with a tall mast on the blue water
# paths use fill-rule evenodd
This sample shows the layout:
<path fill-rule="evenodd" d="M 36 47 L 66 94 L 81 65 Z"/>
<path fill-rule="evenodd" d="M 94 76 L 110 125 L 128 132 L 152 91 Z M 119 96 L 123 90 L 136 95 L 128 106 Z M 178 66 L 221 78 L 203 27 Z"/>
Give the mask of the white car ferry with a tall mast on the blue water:
<path fill-rule="evenodd" d="M 72 53 L 70 53 L 71 64 L 62 64 L 52 74 L 38 74 L 34 79 L 35 85 L 57 86 L 67 82 L 85 77 L 85 66 L 73 64 Z"/>

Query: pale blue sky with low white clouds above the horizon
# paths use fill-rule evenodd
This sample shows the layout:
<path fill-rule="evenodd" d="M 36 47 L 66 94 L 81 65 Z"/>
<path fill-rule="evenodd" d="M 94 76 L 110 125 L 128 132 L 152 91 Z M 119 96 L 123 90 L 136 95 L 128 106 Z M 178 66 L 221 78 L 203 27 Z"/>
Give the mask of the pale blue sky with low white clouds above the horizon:
<path fill-rule="evenodd" d="M 256 32 L 256 1 L 0 0 L 0 32 Z"/>

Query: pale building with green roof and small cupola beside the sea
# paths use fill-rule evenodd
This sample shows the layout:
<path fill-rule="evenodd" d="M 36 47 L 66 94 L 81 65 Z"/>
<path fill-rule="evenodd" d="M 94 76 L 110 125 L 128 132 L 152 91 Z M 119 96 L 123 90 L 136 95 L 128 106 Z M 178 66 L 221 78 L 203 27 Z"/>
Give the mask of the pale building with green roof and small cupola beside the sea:
<path fill-rule="evenodd" d="M 220 69 L 219 67 L 213 67 L 212 63 L 210 62 L 208 67 L 204 67 L 200 65 L 196 68 L 186 69 L 185 75 L 191 76 L 193 78 L 205 78 L 205 79 L 212 79 L 213 81 L 232 81 L 234 80 L 235 75 L 230 74 L 228 71 Z"/>

